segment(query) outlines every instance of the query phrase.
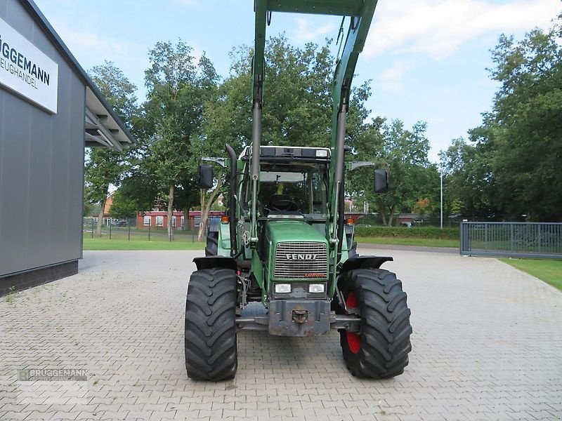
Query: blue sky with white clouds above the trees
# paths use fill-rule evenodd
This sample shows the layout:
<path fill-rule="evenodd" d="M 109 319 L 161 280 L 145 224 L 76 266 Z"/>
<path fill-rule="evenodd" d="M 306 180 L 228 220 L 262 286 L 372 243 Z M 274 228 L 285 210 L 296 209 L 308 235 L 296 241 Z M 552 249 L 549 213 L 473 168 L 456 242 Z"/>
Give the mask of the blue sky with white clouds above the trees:
<path fill-rule="evenodd" d="M 230 72 L 229 52 L 254 43 L 253 0 L 34 0 L 84 69 L 110 60 L 145 95 L 148 50 L 182 39 L 207 54 L 218 74 Z M 426 121 L 429 158 L 464 137 L 490 111 L 497 82 L 490 50 L 500 34 L 522 39 L 547 29 L 561 0 L 380 0 L 354 83 L 372 81 L 371 116 Z M 273 13 L 268 36 L 291 44 L 324 44 L 341 18 Z M 335 53 L 335 51 L 334 51 Z M 306 140 L 303 140 L 306 144 Z"/>

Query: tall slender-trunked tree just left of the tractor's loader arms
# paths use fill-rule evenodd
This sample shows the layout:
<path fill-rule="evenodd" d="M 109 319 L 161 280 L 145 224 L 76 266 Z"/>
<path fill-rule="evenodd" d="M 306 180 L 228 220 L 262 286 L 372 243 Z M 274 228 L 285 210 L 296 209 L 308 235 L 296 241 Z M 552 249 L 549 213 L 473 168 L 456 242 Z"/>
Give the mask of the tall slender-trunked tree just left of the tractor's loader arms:
<path fill-rule="evenodd" d="M 149 52 L 149 60 L 144 117 L 150 140 L 144 163 L 168 204 L 171 237 L 176 189 L 181 180 L 192 185 L 197 156 L 201 156 L 193 154 L 192 140 L 201 135 L 204 104 L 215 94 L 218 76 L 211 61 L 202 55 L 196 62 L 192 48 L 183 41 L 176 46 L 157 43 Z M 183 189 L 187 186 L 181 185 Z"/>

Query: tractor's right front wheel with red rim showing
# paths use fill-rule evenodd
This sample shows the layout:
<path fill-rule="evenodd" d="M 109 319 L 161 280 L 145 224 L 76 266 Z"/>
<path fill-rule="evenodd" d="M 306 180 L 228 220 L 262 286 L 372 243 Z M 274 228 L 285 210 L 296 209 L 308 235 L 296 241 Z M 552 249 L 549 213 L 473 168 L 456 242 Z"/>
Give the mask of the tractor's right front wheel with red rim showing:
<path fill-rule="evenodd" d="M 340 330 L 351 374 L 373 379 L 402 374 L 412 350 L 410 309 L 402 282 L 384 269 L 355 269 L 344 275 L 339 288 L 348 309 L 358 309 L 361 316 L 360 333 Z"/>

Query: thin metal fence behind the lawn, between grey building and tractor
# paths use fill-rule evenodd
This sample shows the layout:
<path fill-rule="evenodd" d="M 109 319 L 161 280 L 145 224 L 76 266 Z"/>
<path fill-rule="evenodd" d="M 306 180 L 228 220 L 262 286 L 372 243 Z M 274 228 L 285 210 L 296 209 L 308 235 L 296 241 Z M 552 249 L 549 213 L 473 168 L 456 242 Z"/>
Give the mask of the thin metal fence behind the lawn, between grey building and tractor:
<path fill-rule="evenodd" d="M 84 239 L 105 239 L 124 241 L 179 241 L 195 243 L 199 227 L 192 220 L 186 220 L 185 226 L 174 226 L 172 235 L 165 226 L 136 225 L 136 219 L 104 220 L 101 233 L 96 233 L 97 218 L 84 218 Z"/>

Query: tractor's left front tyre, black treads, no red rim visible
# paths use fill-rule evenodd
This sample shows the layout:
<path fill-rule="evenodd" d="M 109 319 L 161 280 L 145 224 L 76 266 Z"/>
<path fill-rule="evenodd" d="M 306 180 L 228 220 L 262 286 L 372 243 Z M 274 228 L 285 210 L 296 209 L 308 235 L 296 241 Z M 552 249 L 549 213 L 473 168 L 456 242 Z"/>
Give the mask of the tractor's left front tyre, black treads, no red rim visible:
<path fill-rule="evenodd" d="M 185 368 L 194 380 L 236 375 L 236 274 L 232 269 L 192 273 L 185 304 Z"/>

